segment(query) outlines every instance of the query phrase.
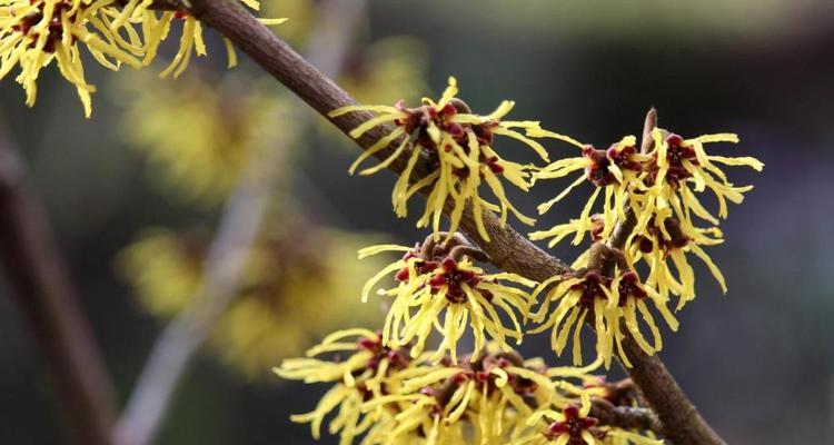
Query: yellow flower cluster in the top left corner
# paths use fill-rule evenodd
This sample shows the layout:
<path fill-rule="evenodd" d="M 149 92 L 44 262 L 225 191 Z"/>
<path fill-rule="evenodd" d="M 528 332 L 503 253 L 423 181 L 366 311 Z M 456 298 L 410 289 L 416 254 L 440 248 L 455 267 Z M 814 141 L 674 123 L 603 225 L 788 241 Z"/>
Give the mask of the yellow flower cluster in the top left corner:
<path fill-rule="evenodd" d="M 256 0 L 241 0 L 258 9 Z M 148 66 L 175 21 L 182 21 L 179 50 L 161 76 L 179 76 L 196 52 L 206 55 L 200 22 L 186 11 L 151 10 L 150 0 L 0 0 L 0 79 L 16 66 L 16 78 L 33 106 L 40 70 L 52 60 L 76 87 L 85 108 L 92 113 L 90 93 L 96 87 L 85 78 L 80 46 L 86 47 L 100 65 L 118 70 L 121 65 Z M 277 24 L 284 19 L 264 20 Z M 236 63 L 227 40 L 229 66 Z"/>

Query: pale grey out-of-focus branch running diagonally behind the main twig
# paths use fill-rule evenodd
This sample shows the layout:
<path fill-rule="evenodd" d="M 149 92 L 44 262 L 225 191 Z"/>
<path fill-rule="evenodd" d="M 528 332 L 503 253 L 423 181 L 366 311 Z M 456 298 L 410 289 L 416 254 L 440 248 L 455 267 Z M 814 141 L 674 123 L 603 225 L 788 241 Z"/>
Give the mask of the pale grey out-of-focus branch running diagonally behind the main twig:
<path fill-rule="evenodd" d="M 342 66 L 349 36 L 364 7 L 364 0 L 325 1 L 318 7 L 307 52 L 324 72 L 335 76 Z M 312 115 L 304 116 L 300 127 L 308 127 Z M 279 175 L 281 162 L 277 158 L 291 144 L 295 141 L 272 141 L 241 170 L 209 248 L 203 290 L 166 327 L 153 346 L 117 427 L 120 445 L 147 445 L 157 436 L 188 364 L 237 295 L 247 253 L 264 224 Z"/>

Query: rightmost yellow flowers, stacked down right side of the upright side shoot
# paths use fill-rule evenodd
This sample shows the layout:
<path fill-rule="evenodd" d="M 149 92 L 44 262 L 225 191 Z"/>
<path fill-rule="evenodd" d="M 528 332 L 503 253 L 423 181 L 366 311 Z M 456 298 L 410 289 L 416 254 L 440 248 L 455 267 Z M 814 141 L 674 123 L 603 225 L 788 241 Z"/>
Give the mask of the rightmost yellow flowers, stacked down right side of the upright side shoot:
<path fill-rule="evenodd" d="M 635 194 L 637 225 L 626 244 L 631 264 L 643 259 L 651 269 L 648 284 L 666 297 L 678 296 L 677 308 L 695 298 L 695 278 L 685 254 L 703 260 L 726 293 L 718 267 L 702 246 L 723 243 L 718 219 L 701 202 L 696 194 L 711 190 L 718 202 L 718 217 L 727 217 L 727 201 L 741 204 L 753 186 L 734 186 L 718 165 L 746 166 L 761 171 L 764 165 L 752 157 L 726 157 L 707 154 L 705 144 L 738 142 L 732 134 L 706 135 L 693 139 L 655 128 L 647 156 L 645 194 Z M 698 227 L 695 217 L 707 227 Z M 669 267 L 672 259 L 677 277 Z"/>

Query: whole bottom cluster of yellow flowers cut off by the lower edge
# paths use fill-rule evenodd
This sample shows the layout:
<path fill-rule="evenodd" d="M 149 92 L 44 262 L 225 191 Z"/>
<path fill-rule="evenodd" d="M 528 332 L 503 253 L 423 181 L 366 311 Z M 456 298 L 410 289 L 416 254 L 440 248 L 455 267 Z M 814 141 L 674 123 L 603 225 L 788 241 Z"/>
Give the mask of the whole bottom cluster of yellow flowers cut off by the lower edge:
<path fill-rule="evenodd" d="M 317 357 L 325 354 L 340 358 Z M 540 358 L 525 360 L 494 344 L 480 358 L 461 364 L 449 358 L 433 363 L 428 357 L 434 354 L 415 356 L 410 345 L 391 348 L 379 333 L 348 329 L 325 338 L 307 358 L 284 360 L 275 372 L 284 378 L 334 385 L 316 409 L 292 421 L 309 423 L 318 438 L 325 417 L 336 411 L 329 432 L 345 445 L 360 437 L 365 445 L 618 445 L 625 444 L 617 442 L 624 437 L 639 445 L 661 443 L 648 432 L 599 425 L 590 416 L 592 397 L 607 399 L 613 394 L 589 374 L 598 362 L 585 368 L 548 368 Z M 554 409 L 573 416 L 542 425 Z M 576 425 L 593 436 L 588 439 Z"/>

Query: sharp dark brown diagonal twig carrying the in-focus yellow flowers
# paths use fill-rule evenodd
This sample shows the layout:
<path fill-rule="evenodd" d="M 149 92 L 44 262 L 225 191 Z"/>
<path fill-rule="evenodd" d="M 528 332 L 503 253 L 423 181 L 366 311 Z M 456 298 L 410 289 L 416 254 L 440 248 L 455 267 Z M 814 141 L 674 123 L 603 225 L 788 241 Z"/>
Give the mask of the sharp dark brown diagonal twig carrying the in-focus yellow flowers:
<path fill-rule="evenodd" d="M 337 108 L 356 103 L 347 92 L 261 26 L 237 1 L 201 0 L 195 3 L 192 13 L 231 39 L 238 48 L 322 116 Z M 331 121 L 347 134 L 370 117 L 367 112 L 354 112 Z M 366 132 L 357 142 L 368 148 L 389 132 L 389 128 L 377 127 Z M 397 141 L 393 142 L 388 150 L 379 151 L 378 157 L 389 156 L 390 148 L 396 144 Z M 390 169 L 400 174 L 405 164 L 405 157 L 400 157 L 391 162 Z M 420 177 L 419 171 L 415 172 L 415 176 Z M 484 226 L 492 243 L 485 243 L 478 236 L 470 209 L 465 212 L 461 220 L 463 230 L 499 268 L 535 280 L 544 280 L 569 270 L 564 261 L 546 254 L 517 231 L 509 227 L 502 228 L 497 217 L 490 212 L 484 214 Z M 706 422 L 697 415 L 697 411 L 659 358 L 646 356 L 632 342 L 625 342 L 624 347 L 635 357 L 634 367 L 629 373 L 663 421 L 667 437 L 681 445 L 723 444 Z"/>

